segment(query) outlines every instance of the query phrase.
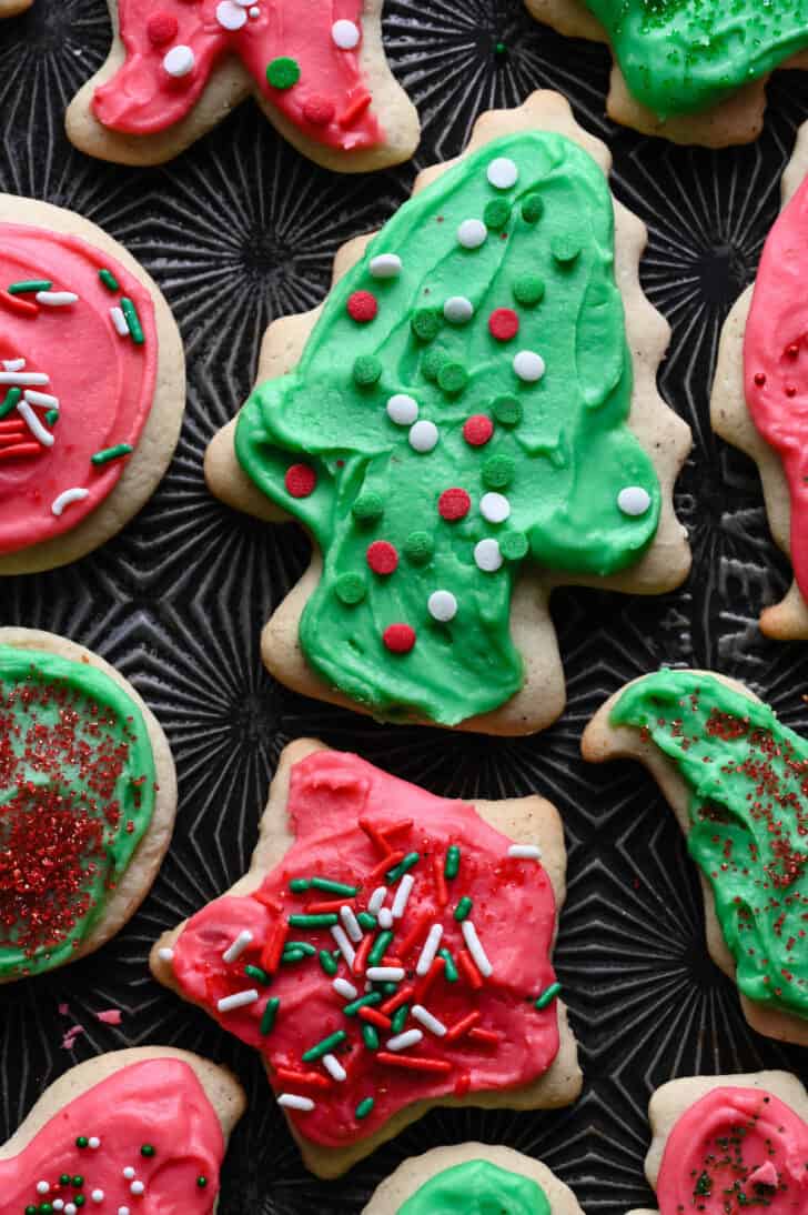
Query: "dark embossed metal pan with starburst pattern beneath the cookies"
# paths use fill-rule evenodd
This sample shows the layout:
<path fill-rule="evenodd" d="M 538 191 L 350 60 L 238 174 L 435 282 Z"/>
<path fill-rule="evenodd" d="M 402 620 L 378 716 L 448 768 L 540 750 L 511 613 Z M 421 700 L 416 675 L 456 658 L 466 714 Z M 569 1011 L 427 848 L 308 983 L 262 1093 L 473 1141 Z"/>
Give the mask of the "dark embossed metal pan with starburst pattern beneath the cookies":
<path fill-rule="evenodd" d="M 747 1028 L 734 987 L 707 959 L 695 872 L 656 786 L 635 765 L 587 768 L 578 739 L 609 693 L 663 661 L 738 676 L 808 729 L 808 646 L 767 642 L 756 626 L 787 582 L 757 474 L 711 434 L 707 416 L 719 328 L 776 215 L 780 174 L 808 117 L 808 77 L 775 77 L 756 146 L 711 153 L 608 123 L 605 49 L 543 29 L 520 0 L 388 0 L 385 35 L 420 109 L 423 143 L 414 163 L 351 179 L 294 153 L 252 102 L 166 168 L 92 162 L 67 143 L 62 115 L 104 57 L 104 0 L 35 0 L 0 24 L 0 190 L 73 208 L 123 241 L 174 309 L 190 377 L 177 454 L 140 518 L 67 570 L 0 582 L 0 625 L 64 633 L 134 682 L 168 731 L 181 790 L 174 846 L 130 925 L 75 966 L 0 989 L 0 1140 L 73 1063 L 175 1044 L 230 1063 L 248 1090 L 222 1215 L 357 1213 L 402 1158 L 467 1138 L 541 1157 L 588 1213 L 623 1215 L 651 1200 L 643 1157 L 654 1086 L 694 1072 L 804 1068 L 796 1049 Z M 202 457 L 250 388 L 267 322 L 316 305 L 344 241 L 391 215 L 418 168 L 457 154 L 479 113 L 538 86 L 565 92 L 611 143 L 615 190 L 650 228 L 643 281 L 673 326 L 661 388 L 695 437 L 677 493 L 695 569 L 662 598 L 558 594 L 569 707 L 546 734 L 509 741 L 385 729 L 295 696 L 264 672 L 259 629 L 301 572 L 306 542 L 217 504 Z M 277 755 L 303 734 L 439 793 L 538 790 L 560 808 L 570 893 L 558 968 L 586 1069 L 575 1107 L 437 1111 L 326 1186 L 303 1169 L 258 1055 L 151 979 L 154 937 L 244 871 Z M 109 1007 L 123 1011 L 118 1028 L 94 1017 Z M 74 1022 L 85 1032 L 66 1051 Z"/>

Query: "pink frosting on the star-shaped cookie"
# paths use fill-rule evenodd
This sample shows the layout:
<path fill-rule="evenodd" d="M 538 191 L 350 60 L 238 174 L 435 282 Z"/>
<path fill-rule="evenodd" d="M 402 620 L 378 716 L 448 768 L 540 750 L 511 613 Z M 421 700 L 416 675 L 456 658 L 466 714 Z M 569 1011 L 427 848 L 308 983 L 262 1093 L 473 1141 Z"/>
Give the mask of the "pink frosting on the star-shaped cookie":
<path fill-rule="evenodd" d="M 546 998 L 542 1008 L 535 1005 L 554 983 L 549 951 L 555 900 L 542 865 L 509 857 L 510 841 L 473 807 L 435 797 L 351 755 L 317 752 L 296 764 L 288 813 L 296 840 L 282 864 L 252 895 L 225 895 L 188 921 L 175 945 L 174 973 L 186 996 L 261 1051 L 276 1094 L 313 1102 L 311 1109 L 287 1108 L 299 1134 L 345 1147 L 419 1098 L 512 1089 L 542 1075 L 559 1049 L 555 1000 Z M 446 876 L 452 846 L 459 848 L 459 865 L 451 876 L 450 857 Z M 300 914 L 337 914 L 345 929 L 340 908 L 360 915 L 379 886 L 386 886 L 384 908 L 392 911 L 406 882 L 402 870 L 414 881 L 403 915 L 392 921 L 392 938 L 383 939 L 380 960 L 372 956 L 380 925 L 360 926 L 352 966 L 340 956 L 335 968 L 338 940 L 328 926 L 289 923 L 289 916 Z M 312 877 L 358 887 L 358 893 L 340 895 L 313 886 L 294 892 L 289 886 L 294 878 Z M 454 917 L 464 897 L 471 900 L 465 922 L 484 950 L 481 968 Z M 450 957 L 439 953 L 419 974 L 434 925 L 443 928 L 439 948 Z M 244 931 L 252 943 L 226 962 L 222 955 Z M 326 972 L 317 954 L 296 956 L 292 942 L 328 950 L 327 968 L 334 973 Z M 490 973 L 484 973 L 486 957 Z M 245 972 L 245 966 L 261 967 L 271 982 Z M 380 981 L 374 981 L 368 993 L 366 971 L 373 966 L 400 967 L 405 976 L 395 990 L 379 990 Z M 345 1013 L 351 996 L 350 990 L 334 989 L 340 979 L 360 998 L 369 994 L 371 1004 Z M 219 1011 L 222 998 L 250 989 L 259 993 L 258 1000 Z M 267 1029 L 267 1005 L 276 999 L 279 1005 Z M 408 1012 L 401 1024 L 395 1018 L 402 1017 L 405 1004 Z M 425 1027 L 413 1011 L 418 1007 L 447 1033 L 439 1036 Z M 420 1040 L 396 1051 L 395 1038 L 413 1029 L 423 1034 Z M 333 1034 L 345 1035 L 329 1049 L 345 1079 L 335 1079 L 322 1058 L 304 1058 Z"/>

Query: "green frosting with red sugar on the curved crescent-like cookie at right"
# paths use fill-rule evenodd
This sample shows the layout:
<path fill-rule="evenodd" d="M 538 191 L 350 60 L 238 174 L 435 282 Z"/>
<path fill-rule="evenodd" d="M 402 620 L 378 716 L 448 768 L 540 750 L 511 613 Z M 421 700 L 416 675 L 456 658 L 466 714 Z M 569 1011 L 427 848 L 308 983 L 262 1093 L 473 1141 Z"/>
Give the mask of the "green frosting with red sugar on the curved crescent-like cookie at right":
<path fill-rule="evenodd" d="M 690 790 L 688 848 L 744 995 L 808 1017 L 808 742 L 767 705 L 691 671 L 638 680 L 610 720 L 642 729 Z"/>

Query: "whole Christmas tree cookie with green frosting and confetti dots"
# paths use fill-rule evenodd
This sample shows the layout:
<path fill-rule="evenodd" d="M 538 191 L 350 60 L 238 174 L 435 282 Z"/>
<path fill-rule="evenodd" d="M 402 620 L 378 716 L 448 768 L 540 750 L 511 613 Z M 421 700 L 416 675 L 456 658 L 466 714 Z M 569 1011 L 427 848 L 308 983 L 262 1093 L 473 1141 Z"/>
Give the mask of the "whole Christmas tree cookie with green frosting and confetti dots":
<path fill-rule="evenodd" d="M 656 392 L 667 328 L 608 165 L 556 94 L 485 115 L 346 247 L 321 310 L 270 328 L 207 475 L 315 542 L 264 635 L 282 682 L 530 733 L 564 702 L 552 588 L 685 577 L 671 491 L 689 431 Z"/>

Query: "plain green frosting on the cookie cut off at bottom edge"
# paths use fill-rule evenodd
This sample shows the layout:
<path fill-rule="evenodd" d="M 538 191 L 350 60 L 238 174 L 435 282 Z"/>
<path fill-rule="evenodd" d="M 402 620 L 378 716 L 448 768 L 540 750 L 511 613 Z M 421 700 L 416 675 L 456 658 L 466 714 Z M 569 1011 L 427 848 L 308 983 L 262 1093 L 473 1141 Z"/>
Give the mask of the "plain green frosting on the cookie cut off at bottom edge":
<path fill-rule="evenodd" d="M 399 1215 L 550 1215 L 550 1204 L 530 1177 L 467 1160 L 430 1177 Z"/>

